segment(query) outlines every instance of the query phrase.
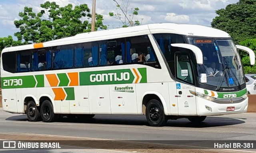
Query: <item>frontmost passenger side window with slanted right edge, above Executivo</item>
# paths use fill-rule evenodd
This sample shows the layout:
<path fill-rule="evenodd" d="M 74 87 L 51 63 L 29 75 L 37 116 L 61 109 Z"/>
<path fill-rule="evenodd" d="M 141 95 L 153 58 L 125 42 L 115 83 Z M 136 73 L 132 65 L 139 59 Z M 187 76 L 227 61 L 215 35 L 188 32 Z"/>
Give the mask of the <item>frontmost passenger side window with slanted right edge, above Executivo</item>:
<path fill-rule="evenodd" d="M 156 61 L 154 50 L 147 35 L 128 39 L 126 46 L 127 63 Z"/>

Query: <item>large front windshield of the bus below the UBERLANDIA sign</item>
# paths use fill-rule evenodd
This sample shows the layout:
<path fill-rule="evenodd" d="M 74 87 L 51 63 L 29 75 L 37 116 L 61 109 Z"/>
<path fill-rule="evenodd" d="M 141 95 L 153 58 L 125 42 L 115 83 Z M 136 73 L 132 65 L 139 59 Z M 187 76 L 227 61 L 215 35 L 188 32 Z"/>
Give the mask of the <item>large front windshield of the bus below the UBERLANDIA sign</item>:
<path fill-rule="evenodd" d="M 188 38 L 202 50 L 204 62 L 197 66 L 200 83 L 220 87 L 237 87 L 244 83 L 241 60 L 232 40 Z"/>

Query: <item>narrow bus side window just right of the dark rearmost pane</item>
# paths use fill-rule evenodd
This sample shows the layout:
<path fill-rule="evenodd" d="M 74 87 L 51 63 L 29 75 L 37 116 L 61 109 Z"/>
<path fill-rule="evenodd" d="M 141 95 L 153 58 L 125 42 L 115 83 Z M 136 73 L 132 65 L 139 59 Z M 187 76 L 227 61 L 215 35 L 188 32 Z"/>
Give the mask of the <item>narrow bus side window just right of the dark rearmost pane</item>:
<path fill-rule="evenodd" d="M 17 72 L 28 72 L 31 70 L 30 50 L 21 51 L 17 54 Z"/>

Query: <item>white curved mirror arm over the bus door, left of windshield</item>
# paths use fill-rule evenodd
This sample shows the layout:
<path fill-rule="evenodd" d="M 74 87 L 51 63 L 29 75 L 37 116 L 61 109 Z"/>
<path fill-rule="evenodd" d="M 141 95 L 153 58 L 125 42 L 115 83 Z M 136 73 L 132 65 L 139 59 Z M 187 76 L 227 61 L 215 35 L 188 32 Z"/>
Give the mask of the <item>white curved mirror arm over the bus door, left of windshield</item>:
<path fill-rule="evenodd" d="M 186 48 L 189 50 L 192 50 L 192 52 L 195 54 L 196 56 L 196 62 L 199 65 L 203 64 L 203 53 L 202 50 L 200 50 L 200 48 L 194 46 L 194 45 L 190 45 L 190 44 L 171 44 L 171 46 L 173 47 L 180 47 L 180 48 Z"/>

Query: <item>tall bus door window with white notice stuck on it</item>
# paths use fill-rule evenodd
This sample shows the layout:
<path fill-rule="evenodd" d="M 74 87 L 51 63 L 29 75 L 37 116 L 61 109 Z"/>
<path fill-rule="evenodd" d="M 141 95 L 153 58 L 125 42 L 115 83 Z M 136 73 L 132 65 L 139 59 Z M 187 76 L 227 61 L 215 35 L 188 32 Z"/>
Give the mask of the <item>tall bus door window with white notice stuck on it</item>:
<path fill-rule="evenodd" d="M 176 77 L 182 81 L 194 83 L 188 54 L 176 54 Z"/>

